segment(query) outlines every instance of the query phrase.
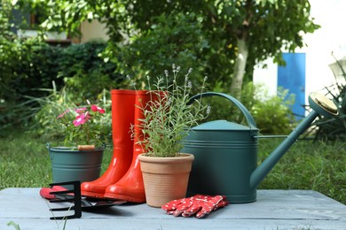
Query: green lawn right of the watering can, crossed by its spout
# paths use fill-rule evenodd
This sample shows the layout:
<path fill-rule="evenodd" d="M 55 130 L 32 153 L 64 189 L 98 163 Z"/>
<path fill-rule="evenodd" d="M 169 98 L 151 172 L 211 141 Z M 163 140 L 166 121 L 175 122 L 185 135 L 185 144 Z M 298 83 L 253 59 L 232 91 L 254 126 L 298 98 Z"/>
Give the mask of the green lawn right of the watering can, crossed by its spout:
<path fill-rule="evenodd" d="M 262 139 L 258 164 L 282 140 Z M 259 189 L 312 189 L 346 203 L 345 142 L 297 141 L 279 160 Z"/>

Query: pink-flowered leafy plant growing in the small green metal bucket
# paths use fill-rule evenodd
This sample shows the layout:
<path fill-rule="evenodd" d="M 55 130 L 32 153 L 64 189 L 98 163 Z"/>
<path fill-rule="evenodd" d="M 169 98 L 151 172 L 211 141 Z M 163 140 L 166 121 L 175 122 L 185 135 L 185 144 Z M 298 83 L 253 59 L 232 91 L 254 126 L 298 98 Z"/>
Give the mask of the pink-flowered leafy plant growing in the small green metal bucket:
<path fill-rule="evenodd" d="M 102 144 L 105 142 L 106 127 L 105 110 L 96 104 L 75 109 L 67 109 L 57 119 L 65 133 L 65 143 L 72 144 Z"/>

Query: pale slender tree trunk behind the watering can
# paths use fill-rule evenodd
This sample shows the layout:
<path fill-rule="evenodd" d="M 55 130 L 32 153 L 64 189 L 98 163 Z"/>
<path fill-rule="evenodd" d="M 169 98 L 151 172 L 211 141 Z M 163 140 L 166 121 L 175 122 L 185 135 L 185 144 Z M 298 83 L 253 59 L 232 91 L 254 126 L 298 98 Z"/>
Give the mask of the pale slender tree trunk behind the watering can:
<path fill-rule="evenodd" d="M 245 67 L 248 60 L 248 44 L 244 38 L 238 38 L 237 45 L 239 54 L 237 59 L 235 60 L 230 93 L 231 96 L 240 100 Z"/>

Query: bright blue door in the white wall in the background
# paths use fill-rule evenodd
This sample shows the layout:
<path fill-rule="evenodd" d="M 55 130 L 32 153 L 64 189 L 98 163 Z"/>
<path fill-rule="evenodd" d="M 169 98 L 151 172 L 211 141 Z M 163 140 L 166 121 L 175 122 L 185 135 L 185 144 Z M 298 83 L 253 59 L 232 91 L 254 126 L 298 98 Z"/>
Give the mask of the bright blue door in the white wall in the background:
<path fill-rule="evenodd" d="M 297 120 L 305 117 L 305 53 L 284 53 L 286 66 L 278 66 L 278 87 L 295 95 L 291 110 Z"/>

